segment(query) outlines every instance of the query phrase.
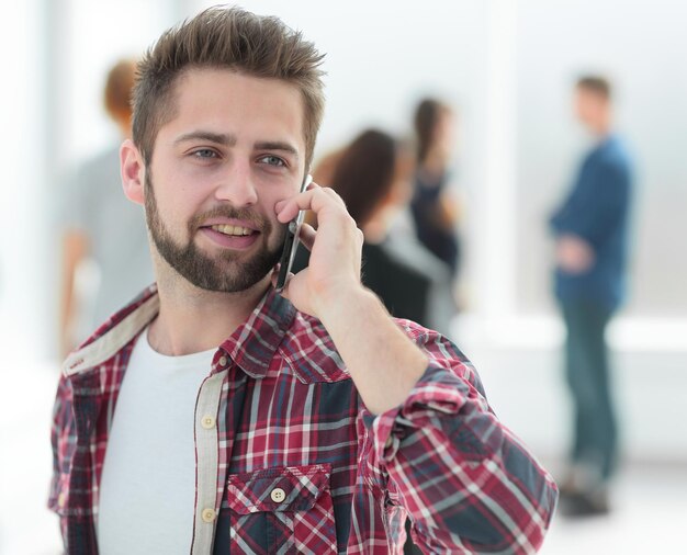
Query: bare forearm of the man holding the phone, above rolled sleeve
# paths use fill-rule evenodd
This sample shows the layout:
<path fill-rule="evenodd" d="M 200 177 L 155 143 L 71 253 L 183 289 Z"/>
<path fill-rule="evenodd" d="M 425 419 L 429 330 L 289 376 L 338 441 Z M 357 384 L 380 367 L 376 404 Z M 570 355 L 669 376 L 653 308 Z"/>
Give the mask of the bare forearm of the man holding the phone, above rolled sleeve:
<path fill-rule="evenodd" d="M 427 369 L 427 355 L 361 286 L 325 306 L 320 319 L 367 408 L 380 414 L 402 405 Z"/>

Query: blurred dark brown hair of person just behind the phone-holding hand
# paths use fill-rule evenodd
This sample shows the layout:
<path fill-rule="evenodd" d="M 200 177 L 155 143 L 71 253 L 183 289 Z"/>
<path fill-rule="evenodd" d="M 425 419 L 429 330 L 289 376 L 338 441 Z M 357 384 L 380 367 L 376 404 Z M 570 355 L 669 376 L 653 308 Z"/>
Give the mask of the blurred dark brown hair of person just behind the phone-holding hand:
<path fill-rule="evenodd" d="M 378 129 L 361 133 L 341 154 L 330 186 L 344 199 L 349 214 L 363 226 L 391 191 L 398 145 Z"/>

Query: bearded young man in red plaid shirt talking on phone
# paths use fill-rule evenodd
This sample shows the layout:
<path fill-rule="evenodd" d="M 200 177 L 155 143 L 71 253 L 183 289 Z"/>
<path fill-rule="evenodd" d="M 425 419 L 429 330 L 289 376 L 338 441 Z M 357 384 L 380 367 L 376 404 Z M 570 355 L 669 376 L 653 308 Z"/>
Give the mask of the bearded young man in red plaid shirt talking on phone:
<path fill-rule="evenodd" d="M 438 333 L 360 283 L 334 191 L 299 194 L 322 56 L 211 9 L 139 66 L 124 191 L 157 285 L 65 363 L 50 507 L 68 553 L 534 552 L 555 485 Z M 285 224 L 309 267 L 272 288 Z"/>

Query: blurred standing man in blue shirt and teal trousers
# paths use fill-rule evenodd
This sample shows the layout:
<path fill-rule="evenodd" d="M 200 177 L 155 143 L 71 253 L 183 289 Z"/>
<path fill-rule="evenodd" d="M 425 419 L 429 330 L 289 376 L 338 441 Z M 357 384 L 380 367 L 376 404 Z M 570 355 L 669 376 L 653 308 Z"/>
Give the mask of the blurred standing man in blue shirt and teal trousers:
<path fill-rule="evenodd" d="M 600 77 L 579 79 L 575 111 L 596 144 L 551 227 L 556 241 L 555 294 L 567 331 L 565 371 L 575 410 L 561 510 L 585 516 L 608 512 L 608 484 L 617 463 L 605 335 L 624 297 L 632 168 L 612 132 L 609 82 Z"/>

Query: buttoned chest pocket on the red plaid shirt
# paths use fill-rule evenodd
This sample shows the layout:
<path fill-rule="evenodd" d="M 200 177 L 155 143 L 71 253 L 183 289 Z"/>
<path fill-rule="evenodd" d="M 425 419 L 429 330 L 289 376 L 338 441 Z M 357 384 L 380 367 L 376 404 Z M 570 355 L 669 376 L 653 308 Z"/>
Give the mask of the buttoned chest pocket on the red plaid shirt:
<path fill-rule="evenodd" d="M 336 553 L 326 464 L 229 475 L 226 502 L 232 553 Z"/>

